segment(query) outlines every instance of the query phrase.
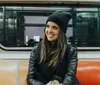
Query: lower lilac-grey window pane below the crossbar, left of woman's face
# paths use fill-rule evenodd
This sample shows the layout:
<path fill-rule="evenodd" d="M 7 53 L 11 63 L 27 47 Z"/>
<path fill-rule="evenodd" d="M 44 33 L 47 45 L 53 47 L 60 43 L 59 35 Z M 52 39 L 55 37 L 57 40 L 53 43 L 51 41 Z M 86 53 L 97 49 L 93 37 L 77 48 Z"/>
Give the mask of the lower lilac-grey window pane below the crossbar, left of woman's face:
<path fill-rule="evenodd" d="M 34 44 L 37 44 L 43 38 L 44 27 L 25 27 L 24 31 L 24 44 L 27 46 L 30 39 L 34 40 Z"/>

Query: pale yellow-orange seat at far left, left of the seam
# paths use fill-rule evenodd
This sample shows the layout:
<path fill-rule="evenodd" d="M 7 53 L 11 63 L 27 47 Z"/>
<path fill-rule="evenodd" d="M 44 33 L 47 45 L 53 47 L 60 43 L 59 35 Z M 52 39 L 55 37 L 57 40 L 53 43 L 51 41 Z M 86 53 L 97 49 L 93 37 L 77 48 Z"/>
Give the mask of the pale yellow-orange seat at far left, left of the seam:
<path fill-rule="evenodd" d="M 16 85 L 16 63 L 0 62 L 0 85 Z"/>

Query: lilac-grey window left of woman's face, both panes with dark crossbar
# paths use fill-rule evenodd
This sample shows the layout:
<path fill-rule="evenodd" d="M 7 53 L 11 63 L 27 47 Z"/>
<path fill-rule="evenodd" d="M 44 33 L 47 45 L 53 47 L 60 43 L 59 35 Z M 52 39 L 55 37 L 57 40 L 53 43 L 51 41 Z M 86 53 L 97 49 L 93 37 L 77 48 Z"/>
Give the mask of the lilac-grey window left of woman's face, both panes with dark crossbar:
<path fill-rule="evenodd" d="M 29 41 L 33 40 L 33 46 L 43 38 L 45 21 L 47 16 L 24 16 L 24 44 L 30 46 Z M 39 26 L 40 25 L 40 26 Z"/>

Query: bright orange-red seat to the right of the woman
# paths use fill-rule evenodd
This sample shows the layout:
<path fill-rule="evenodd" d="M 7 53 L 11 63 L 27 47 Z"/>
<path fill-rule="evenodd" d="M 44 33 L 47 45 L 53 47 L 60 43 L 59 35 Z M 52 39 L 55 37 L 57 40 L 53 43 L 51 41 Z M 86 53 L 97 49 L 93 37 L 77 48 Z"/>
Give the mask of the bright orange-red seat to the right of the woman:
<path fill-rule="evenodd" d="M 79 61 L 77 77 L 82 85 L 100 85 L 100 62 Z"/>

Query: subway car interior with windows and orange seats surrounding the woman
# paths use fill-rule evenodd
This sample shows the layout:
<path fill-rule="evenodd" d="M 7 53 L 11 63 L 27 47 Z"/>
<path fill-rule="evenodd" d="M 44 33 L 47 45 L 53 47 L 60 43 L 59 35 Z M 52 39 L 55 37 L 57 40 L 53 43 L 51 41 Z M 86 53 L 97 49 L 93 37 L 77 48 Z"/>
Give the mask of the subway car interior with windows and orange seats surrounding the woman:
<path fill-rule="evenodd" d="M 27 85 L 30 52 L 42 40 L 46 19 L 56 10 L 69 11 L 66 36 L 78 48 L 77 78 L 100 85 L 99 4 L 3 4 L 0 6 L 0 85 Z"/>

